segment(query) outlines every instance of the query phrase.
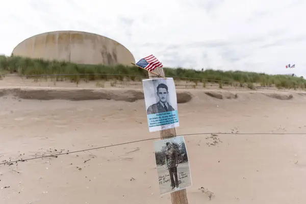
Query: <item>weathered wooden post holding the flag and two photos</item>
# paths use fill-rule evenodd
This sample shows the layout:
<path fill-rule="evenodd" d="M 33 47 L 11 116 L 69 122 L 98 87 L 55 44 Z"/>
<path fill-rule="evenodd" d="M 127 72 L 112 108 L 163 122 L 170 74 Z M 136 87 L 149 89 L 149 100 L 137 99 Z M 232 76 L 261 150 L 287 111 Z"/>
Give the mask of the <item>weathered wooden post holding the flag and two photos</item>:
<path fill-rule="evenodd" d="M 161 75 L 161 77 L 165 77 L 165 72 L 164 72 L 164 69 L 162 67 L 155 68 L 154 72 Z M 150 73 L 148 71 L 148 74 L 149 74 L 150 79 L 151 78 L 156 79 L 156 75 L 154 73 Z M 175 128 L 160 131 L 160 136 L 161 136 L 161 139 L 164 139 L 165 137 L 176 137 Z M 171 195 L 171 203 L 172 204 L 188 204 L 186 189 L 171 192 L 170 195 Z"/>

